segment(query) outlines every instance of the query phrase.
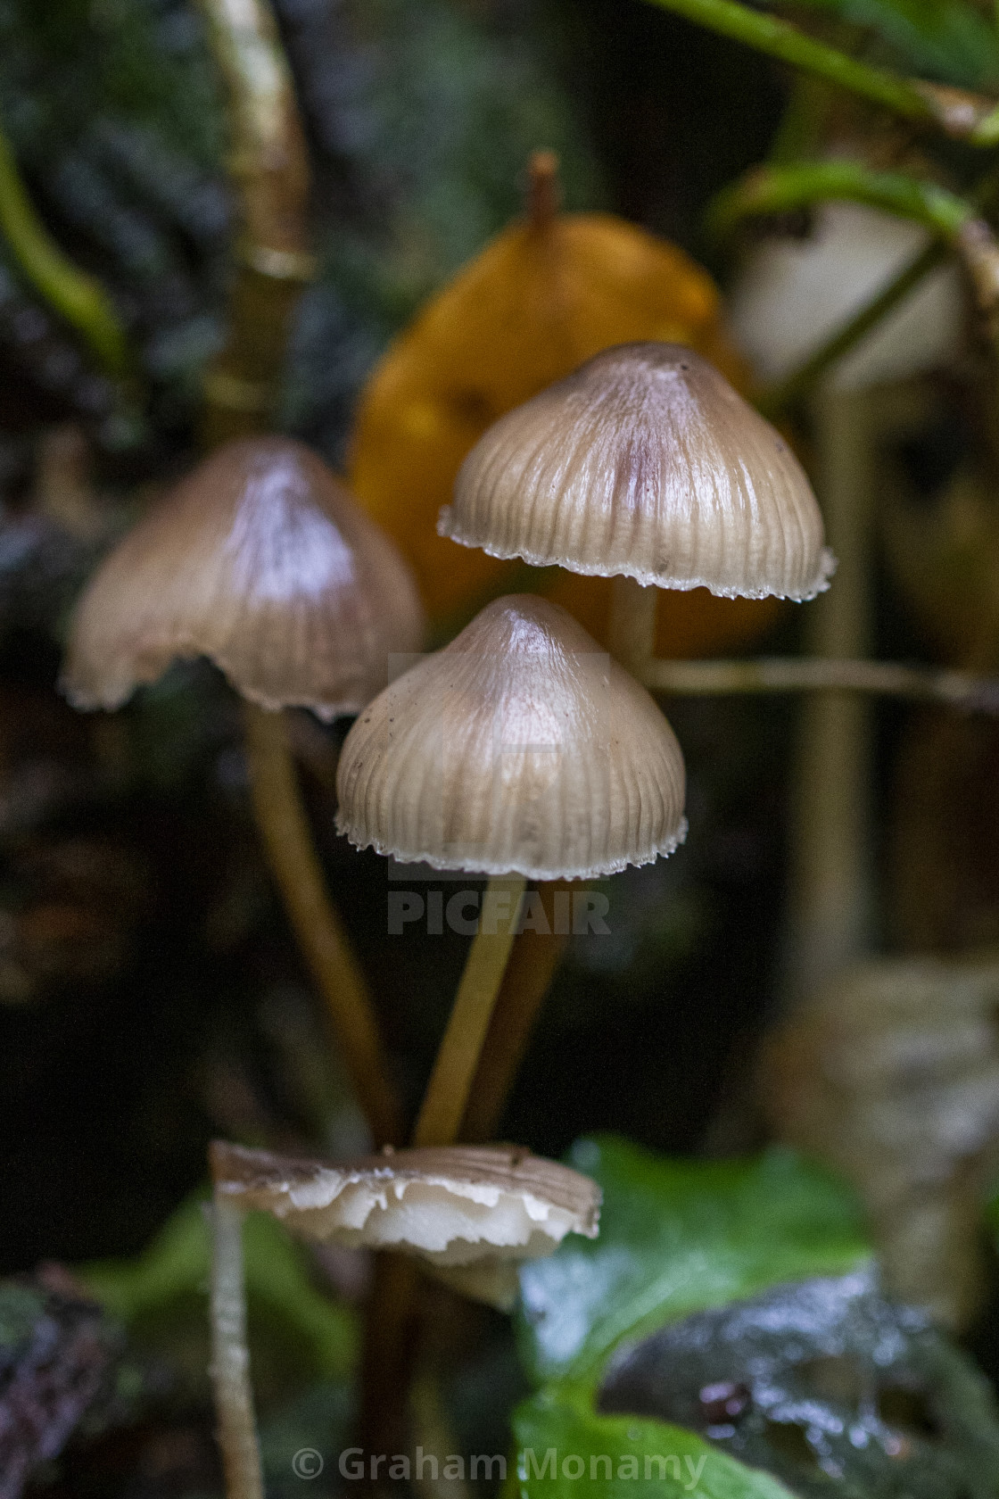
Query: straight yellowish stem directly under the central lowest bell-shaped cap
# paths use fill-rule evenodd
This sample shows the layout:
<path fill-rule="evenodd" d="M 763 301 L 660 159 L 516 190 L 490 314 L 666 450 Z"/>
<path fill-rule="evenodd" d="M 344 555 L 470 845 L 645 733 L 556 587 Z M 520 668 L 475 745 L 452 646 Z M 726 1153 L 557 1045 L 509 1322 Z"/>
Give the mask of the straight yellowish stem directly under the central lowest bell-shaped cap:
<path fill-rule="evenodd" d="M 493 875 L 482 896 L 479 929 L 419 1108 L 413 1145 L 451 1145 L 458 1138 L 493 1006 L 506 973 L 524 883 L 521 874 Z"/>

